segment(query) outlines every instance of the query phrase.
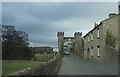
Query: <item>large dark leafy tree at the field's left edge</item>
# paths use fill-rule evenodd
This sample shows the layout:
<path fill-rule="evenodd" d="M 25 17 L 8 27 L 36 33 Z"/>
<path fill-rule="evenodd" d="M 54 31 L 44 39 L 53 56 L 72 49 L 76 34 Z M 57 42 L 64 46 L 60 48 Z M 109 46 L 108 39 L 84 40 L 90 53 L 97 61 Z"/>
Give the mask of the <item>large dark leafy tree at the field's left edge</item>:
<path fill-rule="evenodd" d="M 28 47 L 28 34 L 17 31 L 15 26 L 2 25 L 2 58 L 14 60 L 29 60 L 34 56 Z"/>

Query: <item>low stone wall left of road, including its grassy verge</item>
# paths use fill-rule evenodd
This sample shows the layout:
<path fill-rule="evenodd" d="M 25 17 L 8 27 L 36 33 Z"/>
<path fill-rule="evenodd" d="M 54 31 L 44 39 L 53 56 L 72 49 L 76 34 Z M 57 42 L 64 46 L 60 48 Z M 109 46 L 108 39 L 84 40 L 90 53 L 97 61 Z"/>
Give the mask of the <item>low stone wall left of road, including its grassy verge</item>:
<path fill-rule="evenodd" d="M 62 59 L 57 56 L 53 60 L 50 60 L 45 64 L 41 64 L 32 68 L 27 68 L 25 70 L 18 71 L 2 77 L 21 77 L 22 75 L 55 75 L 59 70 L 61 60 Z"/>

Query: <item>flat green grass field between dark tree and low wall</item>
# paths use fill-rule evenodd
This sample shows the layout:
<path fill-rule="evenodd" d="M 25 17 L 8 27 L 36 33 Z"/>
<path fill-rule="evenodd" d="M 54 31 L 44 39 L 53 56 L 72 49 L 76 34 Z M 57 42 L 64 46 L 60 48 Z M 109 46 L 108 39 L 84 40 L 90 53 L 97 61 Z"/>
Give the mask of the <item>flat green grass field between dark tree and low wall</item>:
<path fill-rule="evenodd" d="M 3 60 L 2 75 L 14 73 L 43 63 L 40 61 Z"/>

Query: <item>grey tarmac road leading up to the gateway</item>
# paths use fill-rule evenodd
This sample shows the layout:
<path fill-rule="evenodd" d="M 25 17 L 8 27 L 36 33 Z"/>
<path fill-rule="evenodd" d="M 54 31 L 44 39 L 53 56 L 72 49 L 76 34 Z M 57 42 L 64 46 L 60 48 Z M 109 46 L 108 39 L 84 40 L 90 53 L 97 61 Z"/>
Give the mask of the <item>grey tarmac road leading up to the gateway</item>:
<path fill-rule="evenodd" d="M 74 54 L 65 55 L 58 75 L 118 75 L 118 66 L 91 62 Z"/>

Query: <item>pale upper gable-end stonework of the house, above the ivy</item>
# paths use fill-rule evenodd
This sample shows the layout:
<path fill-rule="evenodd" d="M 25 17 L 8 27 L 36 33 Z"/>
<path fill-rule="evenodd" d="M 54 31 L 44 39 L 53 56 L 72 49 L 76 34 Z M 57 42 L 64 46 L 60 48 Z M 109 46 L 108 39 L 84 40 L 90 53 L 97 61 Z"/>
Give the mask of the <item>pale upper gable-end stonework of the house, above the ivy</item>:
<path fill-rule="evenodd" d="M 118 18 L 120 15 L 115 15 L 113 17 L 109 17 L 108 19 L 102 21 L 103 27 L 103 38 L 106 38 L 107 31 L 112 32 L 112 34 L 116 37 L 116 46 L 115 49 L 118 51 Z M 105 39 L 104 39 L 105 41 Z"/>

